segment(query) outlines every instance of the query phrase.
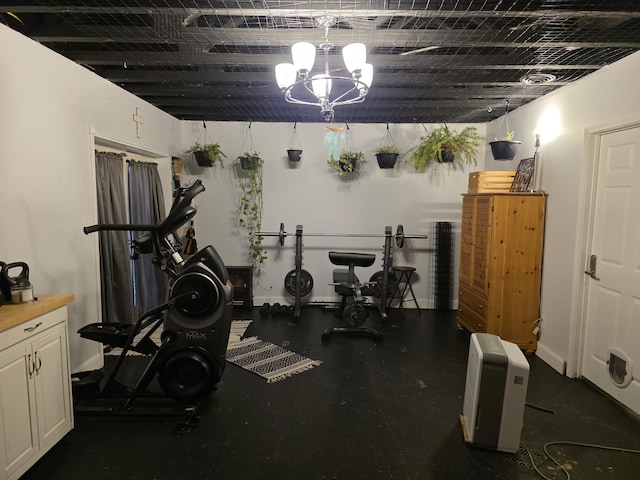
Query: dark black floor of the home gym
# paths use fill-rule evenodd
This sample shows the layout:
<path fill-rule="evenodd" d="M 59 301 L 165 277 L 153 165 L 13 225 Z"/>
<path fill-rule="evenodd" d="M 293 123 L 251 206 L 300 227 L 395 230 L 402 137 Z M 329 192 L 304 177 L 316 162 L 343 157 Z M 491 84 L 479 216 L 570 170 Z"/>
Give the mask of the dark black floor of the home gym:
<path fill-rule="evenodd" d="M 171 419 L 76 416 L 24 480 L 73 479 L 534 479 L 523 455 L 465 444 L 462 413 L 469 333 L 454 312 L 390 312 L 384 341 L 334 337 L 331 312 L 306 308 L 300 323 L 254 313 L 247 335 L 323 363 L 267 384 L 228 365 L 190 433 Z M 374 318 L 369 323 L 375 324 Z M 584 381 L 535 356 L 521 440 L 540 470 L 564 479 L 541 453 L 548 442 L 640 449 L 640 420 Z M 552 410 L 547 413 L 533 407 Z M 640 455 L 551 447 L 571 478 L 638 479 Z"/>

